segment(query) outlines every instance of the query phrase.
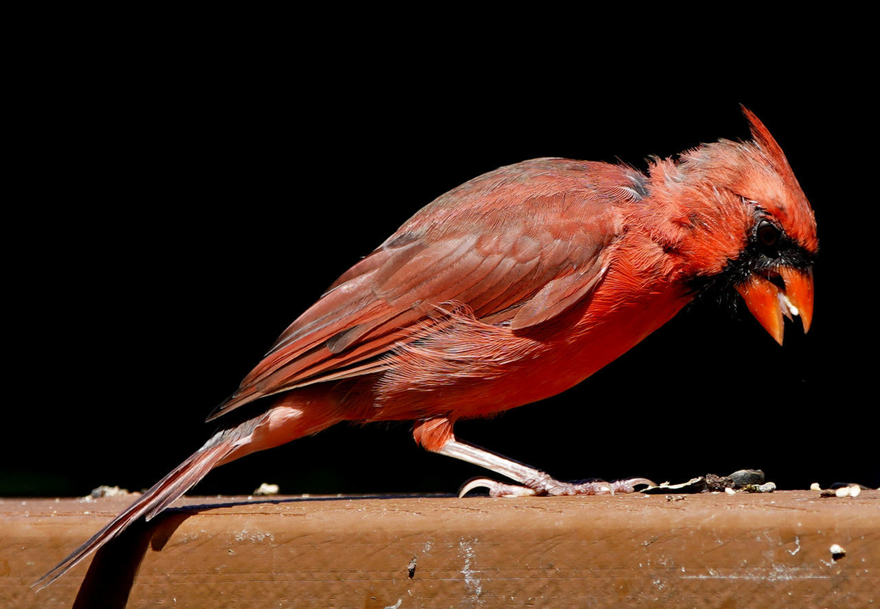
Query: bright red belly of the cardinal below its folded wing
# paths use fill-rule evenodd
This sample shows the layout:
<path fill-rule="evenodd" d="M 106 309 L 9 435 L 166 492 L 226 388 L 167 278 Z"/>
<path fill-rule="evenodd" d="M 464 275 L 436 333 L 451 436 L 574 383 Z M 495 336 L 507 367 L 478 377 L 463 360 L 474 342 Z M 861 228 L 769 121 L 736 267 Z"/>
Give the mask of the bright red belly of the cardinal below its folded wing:
<path fill-rule="evenodd" d="M 669 321 L 688 298 L 658 298 L 601 315 L 573 310 L 527 331 L 450 332 L 395 354 L 372 386 L 373 421 L 492 415 L 561 393 Z"/>

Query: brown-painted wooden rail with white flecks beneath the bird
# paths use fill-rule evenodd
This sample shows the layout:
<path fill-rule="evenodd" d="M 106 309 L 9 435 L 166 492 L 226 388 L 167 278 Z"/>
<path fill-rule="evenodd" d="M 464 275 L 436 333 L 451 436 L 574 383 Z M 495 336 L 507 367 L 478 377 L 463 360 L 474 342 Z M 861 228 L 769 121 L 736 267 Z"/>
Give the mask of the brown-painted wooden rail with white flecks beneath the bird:
<path fill-rule="evenodd" d="M 677 496 L 187 497 L 37 593 L 132 496 L 3 499 L 0 607 L 880 605 L 880 491 Z"/>

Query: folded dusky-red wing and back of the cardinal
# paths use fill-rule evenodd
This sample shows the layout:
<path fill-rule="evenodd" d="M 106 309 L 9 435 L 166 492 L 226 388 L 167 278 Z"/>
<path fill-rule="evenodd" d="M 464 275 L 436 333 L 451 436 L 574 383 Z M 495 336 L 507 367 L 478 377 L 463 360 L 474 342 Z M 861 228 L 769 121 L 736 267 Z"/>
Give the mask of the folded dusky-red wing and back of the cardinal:
<path fill-rule="evenodd" d="M 607 185 L 633 180 L 626 172 L 536 159 L 444 194 L 334 282 L 209 420 L 297 386 L 383 371 L 383 356 L 450 303 L 514 330 L 553 319 L 605 272 L 621 230 L 620 194 Z"/>

